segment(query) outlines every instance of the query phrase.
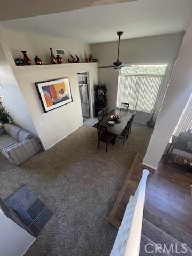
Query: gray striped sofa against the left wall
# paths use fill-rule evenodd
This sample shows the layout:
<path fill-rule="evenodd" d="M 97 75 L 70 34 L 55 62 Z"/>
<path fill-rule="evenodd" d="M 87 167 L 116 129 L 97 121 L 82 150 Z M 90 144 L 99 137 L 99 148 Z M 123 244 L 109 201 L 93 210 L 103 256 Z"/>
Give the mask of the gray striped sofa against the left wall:
<path fill-rule="evenodd" d="M 6 123 L 0 129 L 0 152 L 13 164 L 20 165 L 41 150 L 38 137 L 21 127 Z"/>

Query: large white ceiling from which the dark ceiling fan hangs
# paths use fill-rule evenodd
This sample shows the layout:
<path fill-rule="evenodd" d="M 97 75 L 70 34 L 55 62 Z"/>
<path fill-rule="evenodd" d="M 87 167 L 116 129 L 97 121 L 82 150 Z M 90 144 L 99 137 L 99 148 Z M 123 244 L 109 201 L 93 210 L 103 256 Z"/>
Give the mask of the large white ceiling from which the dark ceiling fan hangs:
<path fill-rule="evenodd" d="M 185 31 L 192 12 L 192 0 L 138 0 L 38 17 L 2 21 L 5 29 L 27 31 L 86 43 Z"/>

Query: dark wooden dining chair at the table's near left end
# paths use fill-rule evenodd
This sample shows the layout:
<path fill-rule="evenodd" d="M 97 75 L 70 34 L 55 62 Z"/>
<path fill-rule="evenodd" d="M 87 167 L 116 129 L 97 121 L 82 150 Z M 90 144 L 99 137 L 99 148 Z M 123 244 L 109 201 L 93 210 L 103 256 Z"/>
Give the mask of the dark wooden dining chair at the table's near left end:
<path fill-rule="evenodd" d="M 98 148 L 99 148 L 99 142 L 105 142 L 106 143 L 106 152 L 107 152 L 107 146 L 109 143 L 112 145 L 115 144 L 115 138 L 116 136 L 112 133 L 107 132 L 107 127 L 97 125 L 98 130 Z"/>

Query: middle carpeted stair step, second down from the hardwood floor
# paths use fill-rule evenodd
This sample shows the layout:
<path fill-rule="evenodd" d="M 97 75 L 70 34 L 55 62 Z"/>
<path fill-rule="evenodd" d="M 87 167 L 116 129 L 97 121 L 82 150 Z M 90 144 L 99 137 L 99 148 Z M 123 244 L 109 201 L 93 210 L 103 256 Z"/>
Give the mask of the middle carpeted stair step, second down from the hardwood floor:
<path fill-rule="evenodd" d="M 143 219 L 142 234 L 147 236 L 150 240 L 152 240 L 156 244 L 161 244 L 162 246 L 164 246 L 165 244 L 168 250 L 172 245 L 174 251 L 173 252 L 170 251 L 171 255 L 177 255 L 177 253 L 175 253 L 176 248 L 177 248 L 177 251 L 180 252 L 178 254 L 182 255 L 181 253 L 183 251 L 182 243 L 177 239 L 175 239 L 174 237 L 170 236 L 169 234 L 165 233 L 165 231 L 153 225 L 153 223 L 149 222 L 146 219 Z M 183 255 L 192 256 L 192 250 L 189 247 L 187 247 L 187 252 Z"/>

